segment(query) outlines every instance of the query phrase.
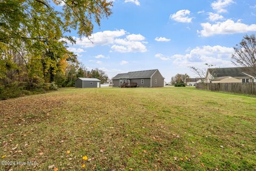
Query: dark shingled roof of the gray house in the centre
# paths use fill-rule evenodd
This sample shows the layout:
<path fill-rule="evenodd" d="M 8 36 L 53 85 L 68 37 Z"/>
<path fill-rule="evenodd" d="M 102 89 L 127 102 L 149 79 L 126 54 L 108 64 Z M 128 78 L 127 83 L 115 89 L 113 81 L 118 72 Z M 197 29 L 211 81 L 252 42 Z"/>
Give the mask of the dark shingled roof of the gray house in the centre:
<path fill-rule="evenodd" d="M 151 70 L 144 70 L 144 71 L 133 71 L 127 72 L 123 74 L 117 74 L 113 79 L 120 79 L 120 78 L 150 78 L 155 74 L 157 69 Z"/>

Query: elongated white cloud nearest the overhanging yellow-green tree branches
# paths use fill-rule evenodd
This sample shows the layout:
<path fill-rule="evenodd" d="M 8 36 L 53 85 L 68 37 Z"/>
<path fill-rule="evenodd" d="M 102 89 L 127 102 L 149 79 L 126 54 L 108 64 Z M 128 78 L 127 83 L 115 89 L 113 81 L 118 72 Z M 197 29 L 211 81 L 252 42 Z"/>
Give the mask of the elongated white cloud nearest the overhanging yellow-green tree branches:
<path fill-rule="evenodd" d="M 94 47 L 97 45 L 108 45 L 113 44 L 115 38 L 121 37 L 126 34 L 126 31 L 121 30 L 115 30 L 115 31 L 100 31 L 92 34 L 89 38 L 82 37 L 81 39 L 78 37 L 75 37 L 76 45 L 81 45 L 82 47 Z"/>

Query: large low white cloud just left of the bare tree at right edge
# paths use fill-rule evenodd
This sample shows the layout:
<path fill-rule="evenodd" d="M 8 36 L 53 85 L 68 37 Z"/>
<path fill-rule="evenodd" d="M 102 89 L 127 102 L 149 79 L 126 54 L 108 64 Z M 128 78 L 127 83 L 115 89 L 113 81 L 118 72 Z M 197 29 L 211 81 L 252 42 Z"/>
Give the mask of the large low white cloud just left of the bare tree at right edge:
<path fill-rule="evenodd" d="M 173 63 L 180 67 L 204 68 L 205 63 L 215 64 L 218 67 L 231 67 L 231 55 L 234 53 L 232 47 L 225 46 L 202 46 L 190 50 L 185 55 L 176 54 L 171 56 Z"/>

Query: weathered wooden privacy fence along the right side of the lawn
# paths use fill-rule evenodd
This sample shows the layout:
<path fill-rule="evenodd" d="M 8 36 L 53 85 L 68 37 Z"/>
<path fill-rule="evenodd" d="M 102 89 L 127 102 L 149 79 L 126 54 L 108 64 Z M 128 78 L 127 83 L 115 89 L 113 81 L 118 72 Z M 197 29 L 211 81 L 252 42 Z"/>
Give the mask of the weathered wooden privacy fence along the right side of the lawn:
<path fill-rule="evenodd" d="M 198 83 L 196 88 L 216 92 L 256 95 L 256 83 Z"/>

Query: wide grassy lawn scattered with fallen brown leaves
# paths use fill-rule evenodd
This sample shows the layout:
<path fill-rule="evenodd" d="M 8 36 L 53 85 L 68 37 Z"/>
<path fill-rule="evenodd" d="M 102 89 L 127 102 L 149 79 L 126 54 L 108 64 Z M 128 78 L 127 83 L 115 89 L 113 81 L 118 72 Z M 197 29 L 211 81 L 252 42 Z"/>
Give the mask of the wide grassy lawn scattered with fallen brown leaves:
<path fill-rule="evenodd" d="M 255 97 L 63 88 L 0 101 L 0 109 L 1 161 L 37 162 L 0 170 L 256 169 Z"/>

